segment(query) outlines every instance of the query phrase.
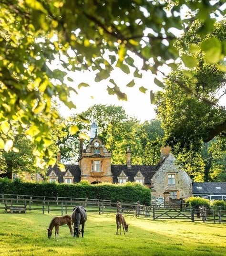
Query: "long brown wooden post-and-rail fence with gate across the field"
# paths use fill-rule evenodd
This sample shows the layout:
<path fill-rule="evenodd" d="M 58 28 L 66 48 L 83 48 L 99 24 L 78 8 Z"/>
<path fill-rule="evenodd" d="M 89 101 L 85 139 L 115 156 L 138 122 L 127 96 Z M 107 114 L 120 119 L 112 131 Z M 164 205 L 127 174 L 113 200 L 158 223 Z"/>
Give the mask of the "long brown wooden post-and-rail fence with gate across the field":
<path fill-rule="evenodd" d="M 109 200 L 81 199 L 81 198 L 53 198 L 43 197 L 38 199 L 33 196 L 1 194 L 0 210 L 5 212 L 15 211 L 16 208 L 24 208 L 26 211 L 41 211 L 42 213 L 71 214 L 75 206 L 82 205 L 90 213 L 124 213 L 133 214 L 137 217 L 144 216 L 153 220 L 176 219 L 203 221 L 210 223 L 226 223 L 226 211 L 219 209 L 206 209 L 205 214 L 200 209 L 189 208 L 187 204 L 180 203 L 175 207 L 172 203 L 164 203 L 150 206 L 136 203 L 113 203 Z M 25 212 L 26 212 L 25 211 Z"/>

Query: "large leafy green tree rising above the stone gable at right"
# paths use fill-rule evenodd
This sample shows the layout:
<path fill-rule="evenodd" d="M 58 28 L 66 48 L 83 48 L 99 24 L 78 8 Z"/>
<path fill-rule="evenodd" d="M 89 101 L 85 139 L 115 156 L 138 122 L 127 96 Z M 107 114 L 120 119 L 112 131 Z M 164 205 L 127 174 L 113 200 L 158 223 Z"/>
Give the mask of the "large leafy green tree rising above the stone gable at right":
<path fill-rule="evenodd" d="M 165 131 L 165 141 L 175 153 L 181 149 L 197 152 L 202 142 L 226 136 L 226 109 L 219 104 L 219 99 L 226 94 L 226 76 L 216 64 L 218 46 L 214 48 L 226 40 L 226 21 L 216 23 L 213 32 L 204 38 L 195 36 L 200 25 L 195 22 L 189 33 L 177 42 L 180 49 L 181 41 L 190 47 L 189 53 L 181 49 L 185 59 L 191 61 L 187 64 L 190 68 L 171 73 L 165 80 L 165 90 L 157 96 L 157 114 Z M 212 57 L 202 50 L 207 44 L 213 46 L 212 51 L 216 50 Z M 222 91 L 221 96 L 217 96 L 218 91 Z"/>

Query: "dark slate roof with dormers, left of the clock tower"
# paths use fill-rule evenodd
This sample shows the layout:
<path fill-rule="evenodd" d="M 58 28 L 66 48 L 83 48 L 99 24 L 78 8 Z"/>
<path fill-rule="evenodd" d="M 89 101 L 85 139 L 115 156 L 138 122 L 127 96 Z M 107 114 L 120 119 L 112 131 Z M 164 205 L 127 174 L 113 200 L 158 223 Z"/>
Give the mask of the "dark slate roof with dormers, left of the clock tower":
<path fill-rule="evenodd" d="M 55 165 L 53 168 L 49 167 L 47 171 L 47 176 L 50 175 L 51 171 L 54 171 L 56 175 L 58 176 L 58 182 L 63 182 L 63 176 L 67 171 L 70 171 L 72 173 L 72 176 L 74 176 L 73 182 L 79 182 L 81 180 L 81 170 L 78 164 L 65 164 L 66 171 L 60 171 L 57 165 Z"/>

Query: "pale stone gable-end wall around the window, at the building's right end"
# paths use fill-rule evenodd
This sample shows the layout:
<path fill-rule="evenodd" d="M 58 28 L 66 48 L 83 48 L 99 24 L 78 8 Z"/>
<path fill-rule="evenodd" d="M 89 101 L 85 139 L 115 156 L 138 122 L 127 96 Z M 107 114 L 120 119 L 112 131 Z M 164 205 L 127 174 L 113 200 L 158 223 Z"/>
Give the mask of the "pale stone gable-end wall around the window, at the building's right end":
<path fill-rule="evenodd" d="M 170 192 L 177 192 L 177 198 L 188 198 L 192 195 L 192 180 L 189 175 L 175 165 L 175 157 L 170 154 L 154 174 L 151 181 L 152 197 L 169 200 Z M 168 184 L 168 174 L 175 174 L 175 185 Z"/>

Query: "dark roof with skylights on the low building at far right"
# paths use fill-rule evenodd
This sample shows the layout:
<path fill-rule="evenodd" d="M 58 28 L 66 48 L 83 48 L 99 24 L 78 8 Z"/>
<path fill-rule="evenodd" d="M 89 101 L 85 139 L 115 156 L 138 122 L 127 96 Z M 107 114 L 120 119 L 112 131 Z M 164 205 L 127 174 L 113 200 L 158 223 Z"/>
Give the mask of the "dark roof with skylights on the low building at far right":
<path fill-rule="evenodd" d="M 197 188 L 197 187 L 201 187 Z M 220 188 L 220 189 L 217 189 Z M 226 194 L 226 182 L 193 182 L 192 184 L 193 194 Z"/>

